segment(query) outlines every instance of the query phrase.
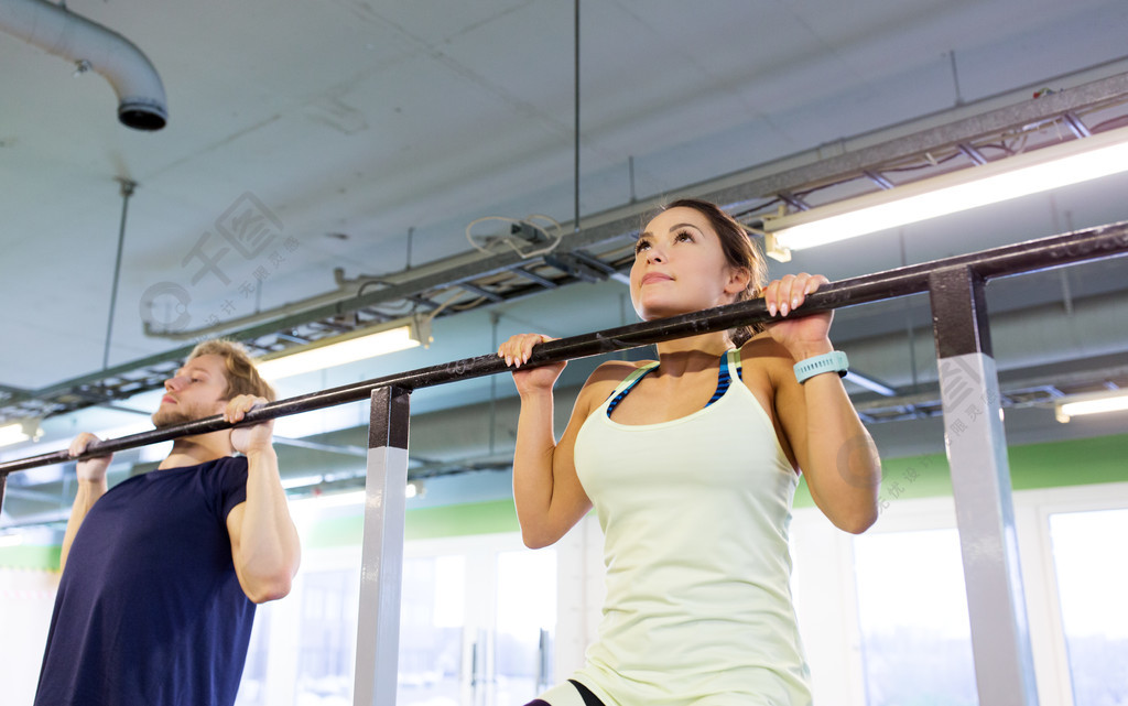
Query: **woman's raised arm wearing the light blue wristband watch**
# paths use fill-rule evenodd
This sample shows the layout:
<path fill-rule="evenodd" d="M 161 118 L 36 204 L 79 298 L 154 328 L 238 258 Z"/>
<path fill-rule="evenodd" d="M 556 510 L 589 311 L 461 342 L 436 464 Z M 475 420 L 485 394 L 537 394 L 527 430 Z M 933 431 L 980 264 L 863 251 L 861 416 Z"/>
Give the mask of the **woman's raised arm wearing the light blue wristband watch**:
<path fill-rule="evenodd" d="M 768 310 L 786 317 L 826 282 L 805 273 L 777 280 L 765 290 Z M 792 369 L 793 363 L 834 350 L 828 337 L 831 318 L 831 312 L 825 312 L 772 324 L 768 333 L 792 360 L 772 365 L 769 376 L 776 414 L 811 497 L 836 527 L 860 533 L 878 519 L 881 461 L 876 447 L 838 373 L 816 374 L 800 383 Z"/>

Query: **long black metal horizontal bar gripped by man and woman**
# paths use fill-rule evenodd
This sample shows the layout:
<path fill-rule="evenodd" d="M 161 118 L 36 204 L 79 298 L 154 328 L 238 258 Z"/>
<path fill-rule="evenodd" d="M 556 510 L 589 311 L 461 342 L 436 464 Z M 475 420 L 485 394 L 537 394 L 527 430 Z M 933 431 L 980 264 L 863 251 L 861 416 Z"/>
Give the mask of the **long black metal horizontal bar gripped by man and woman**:
<path fill-rule="evenodd" d="M 989 280 L 1125 254 L 1128 254 L 1128 222 L 1113 223 L 832 282 L 808 297 L 796 315 L 809 315 L 917 294 L 927 290 L 932 273 L 943 270 L 969 268 Z M 539 365 L 588 358 L 768 320 L 772 320 L 772 317 L 763 300 L 742 301 L 655 321 L 644 321 L 550 341 L 536 347 L 529 364 Z M 373 390 L 391 385 L 414 390 L 468 378 L 496 374 L 506 370 L 503 360 L 488 353 L 271 403 L 248 413 L 244 424 L 368 399 Z M 133 449 L 179 436 L 220 431 L 231 426 L 231 424 L 223 422 L 220 415 L 215 415 L 175 426 L 102 441 L 91 444 L 80 458 Z M 0 474 L 69 460 L 72 459 L 67 455 L 67 451 L 44 453 L 2 462 L 0 464 Z"/>

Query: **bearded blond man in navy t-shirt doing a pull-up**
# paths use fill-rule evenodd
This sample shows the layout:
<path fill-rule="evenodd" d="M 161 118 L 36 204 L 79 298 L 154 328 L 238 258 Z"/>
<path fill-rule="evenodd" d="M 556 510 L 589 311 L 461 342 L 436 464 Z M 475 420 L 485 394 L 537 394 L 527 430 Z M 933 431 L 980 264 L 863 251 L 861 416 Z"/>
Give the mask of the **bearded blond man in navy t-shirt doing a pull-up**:
<path fill-rule="evenodd" d="M 274 398 L 226 341 L 197 345 L 165 390 L 158 427 L 239 422 Z M 156 470 L 109 491 L 109 456 L 78 462 L 36 706 L 235 703 L 255 603 L 289 593 L 300 561 L 272 429 L 177 439 Z M 71 457 L 96 439 L 80 434 Z"/>

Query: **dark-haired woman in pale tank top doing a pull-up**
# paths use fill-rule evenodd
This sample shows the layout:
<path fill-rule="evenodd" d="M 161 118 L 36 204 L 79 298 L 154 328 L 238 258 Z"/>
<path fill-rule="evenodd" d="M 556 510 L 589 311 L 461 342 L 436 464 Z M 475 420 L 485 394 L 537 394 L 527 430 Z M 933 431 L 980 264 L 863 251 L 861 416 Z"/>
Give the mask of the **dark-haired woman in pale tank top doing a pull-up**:
<path fill-rule="evenodd" d="M 552 389 L 565 363 L 520 368 L 546 336 L 500 346 L 521 396 L 513 494 L 526 545 L 555 542 L 593 505 L 605 533 L 599 637 L 573 679 L 530 706 L 809 704 L 788 586 L 799 474 L 849 532 L 876 519 L 881 479 L 839 378 L 831 312 L 787 318 L 827 280 L 763 286 L 743 228 L 696 200 L 651 220 L 635 253 L 644 320 L 752 297 L 777 320 L 667 341 L 655 362 L 602 363 L 559 442 Z"/>

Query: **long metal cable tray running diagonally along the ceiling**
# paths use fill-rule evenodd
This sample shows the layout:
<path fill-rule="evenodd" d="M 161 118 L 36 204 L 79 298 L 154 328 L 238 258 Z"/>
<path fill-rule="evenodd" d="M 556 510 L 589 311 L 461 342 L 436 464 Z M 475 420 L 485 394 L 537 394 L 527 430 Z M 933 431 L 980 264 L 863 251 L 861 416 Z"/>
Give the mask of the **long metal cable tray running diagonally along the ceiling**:
<path fill-rule="evenodd" d="M 916 121 L 932 126 L 908 132 L 893 127 L 849 141 L 731 174 L 680 189 L 724 205 L 743 222 L 758 226 L 764 215 L 784 209 L 805 210 L 864 191 L 891 188 L 942 171 L 985 164 L 993 158 L 1083 139 L 1128 123 L 1128 73 L 941 124 L 943 116 Z M 949 114 L 950 116 L 951 114 Z M 901 133 L 880 140 L 890 131 Z M 834 152 L 832 155 L 829 155 Z M 797 166 L 796 166 L 797 165 Z M 223 335 L 253 352 L 273 353 L 408 314 L 439 317 L 511 301 L 573 282 L 625 279 L 643 214 L 658 200 L 638 201 L 565 224 L 549 253 L 522 257 L 517 249 L 487 255 L 472 251 L 394 275 L 359 277 L 354 291 L 326 295 L 264 311 L 247 320 L 229 320 L 219 329 L 183 332 L 170 338 L 199 341 Z M 389 310 L 390 309 L 390 310 Z M 273 316 L 272 316 L 273 315 Z M 265 319 L 265 320 L 263 320 Z M 0 421 L 47 417 L 90 406 L 111 405 L 159 388 L 192 351 L 194 341 L 150 358 L 131 361 L 42 389 L 0 387 Z M 1064 390 L 1058 390 L 1064 394 Z M 1052 395 L 1055 392 L 1046 392 Z M 869 421 L 938 414 L 927 400 L 900 412 L 865 412 Z"/>

